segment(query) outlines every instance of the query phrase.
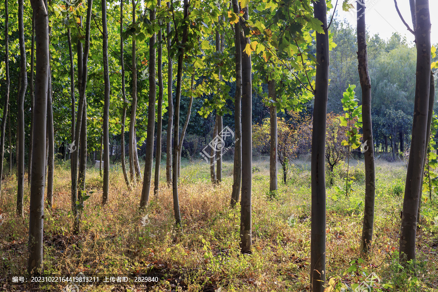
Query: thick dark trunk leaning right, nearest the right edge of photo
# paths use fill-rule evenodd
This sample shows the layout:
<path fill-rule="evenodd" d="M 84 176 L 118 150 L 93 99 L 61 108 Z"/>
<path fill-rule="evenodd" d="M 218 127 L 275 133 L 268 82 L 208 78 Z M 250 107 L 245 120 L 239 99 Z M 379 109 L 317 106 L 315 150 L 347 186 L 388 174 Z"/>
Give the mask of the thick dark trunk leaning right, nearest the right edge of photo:
<path fill-rule="evenodd" d="M 415 41 L 417 44 L 417 74 L 414 101 L 414 120 L 412 124 L 412 142 L 406 173 L 404 191 L 402 228 L 400 233 L 400 261 L 415 263 L 415 244 L 417 234 L 417 216 L 423 176 L 423 162 L 426 148 L 426 131 L 429 110 L 430 90 L 430 12 L 428 0 L 417 0 Z"/>

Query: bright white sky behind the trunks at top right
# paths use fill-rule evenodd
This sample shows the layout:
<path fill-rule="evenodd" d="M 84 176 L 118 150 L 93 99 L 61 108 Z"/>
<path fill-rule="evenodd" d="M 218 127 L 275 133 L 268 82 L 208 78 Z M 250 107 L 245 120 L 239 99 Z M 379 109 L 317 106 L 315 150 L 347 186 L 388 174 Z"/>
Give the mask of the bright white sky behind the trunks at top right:
<path fill-rule="evenodd" d="M 394 0 L 358 0 L 365 3 L 366 6 L 366 15 L 365 21 L 366 26 L 371 34 L 379 34 L 380 37 L 387 39 L 391 37 L 392 33 L 398 32 L 400 35 L 405 36 L 406 40 L 409 43 L 414 41 L 414 36 L 406 29 L 406 26 L 403 24 L 399 15 L 397 14 L 397 10 L 395 9 Z M 334 5 L 336 0 L 331 1 Z M 336 8 L 337 18 L 345 18 L 351 25 L 356 26 L 356 10 L 354 9 L 345 12 L 342 10 L 342 2 L 343 0 L 338 0 L 338 7 Z M 352 3 L 356 8 L 356 0 L 349 0 L 349 3 Z M 404 20 L 410 25 L 412 28 L 412 18 L 411 12 L 409 8 L 408 0 L 397 0 L 400 12 Z M 438 0 L 429 0 L 429 7 L 431 11 L 431 41 L 432 44 L 438 43 L 438 18 L 433 17 L 435 12 L 438 11 Z M 330 11 L 332 14 L 333 11 Z M 328 18 L 330 19 L 330 15 Z"/>

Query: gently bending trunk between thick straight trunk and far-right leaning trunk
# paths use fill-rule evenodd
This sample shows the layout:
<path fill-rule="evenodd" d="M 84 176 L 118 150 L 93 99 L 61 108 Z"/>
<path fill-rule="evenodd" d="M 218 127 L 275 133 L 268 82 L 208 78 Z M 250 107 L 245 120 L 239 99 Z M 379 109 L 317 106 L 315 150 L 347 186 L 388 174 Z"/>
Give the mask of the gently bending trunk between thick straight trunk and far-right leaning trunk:
<path fill-rule="evenodd" d="M 365 5 L 357 2 L 357 44 L 358 71 L 362 88 L 362 123 L 363 140 L 367 142 L 365 151 L 365 210 L 362 226 L 361 250 L 367 255 L 371 249 L 374 225 L 375 170 L 374 139 L 371 122 L 371 80 L 368 73 L 368 54 L 366 51 Z M 364 142 L 364 143 L 365 143 Z"/>

